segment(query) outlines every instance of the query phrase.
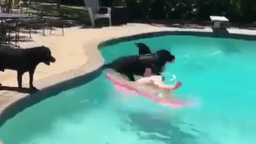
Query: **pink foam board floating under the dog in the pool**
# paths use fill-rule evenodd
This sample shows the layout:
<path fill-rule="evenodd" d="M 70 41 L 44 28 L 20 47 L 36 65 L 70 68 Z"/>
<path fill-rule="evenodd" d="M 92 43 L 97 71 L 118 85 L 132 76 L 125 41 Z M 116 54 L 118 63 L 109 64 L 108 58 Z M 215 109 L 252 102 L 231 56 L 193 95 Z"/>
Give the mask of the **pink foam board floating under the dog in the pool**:
<path fill-rule="evenodd" d="M 193 107 L 193 103 L 186 102 L 181 98 L 172 94 L 171 90 L 159 88 L 157 86 L 150 85 L 141 85 L 136 82 L 126 81 L 120 74 L 118 73 L 107 73 L 107 78 L 114 86 L 122 92 L 139 94 L 144 97 L 151 99 L 154 102 L 157 102 L 163 106 L 170 107 Z M 164 97 L 161 97 L 163 95 Z M 167 97 L 165 97 L 167 96 Z"/>

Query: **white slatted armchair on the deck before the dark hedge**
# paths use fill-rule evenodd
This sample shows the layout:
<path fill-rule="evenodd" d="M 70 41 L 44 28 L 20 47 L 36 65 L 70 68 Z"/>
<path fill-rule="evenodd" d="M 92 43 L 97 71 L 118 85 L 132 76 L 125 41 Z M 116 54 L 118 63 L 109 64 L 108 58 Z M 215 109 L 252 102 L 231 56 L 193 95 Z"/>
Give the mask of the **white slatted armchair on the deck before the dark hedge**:
<path fill-rule="evenodd" d="M 84 0 L 85 7 L 89 13 L 92 26 L 95 27 L 95 20 L 99 18 L 108 18 L 109 26 L 111 26 L 111 8 L 99 6 L 99 0 Z M 107 13 L 98 13 L 100 9 L 107 9 Z"/>

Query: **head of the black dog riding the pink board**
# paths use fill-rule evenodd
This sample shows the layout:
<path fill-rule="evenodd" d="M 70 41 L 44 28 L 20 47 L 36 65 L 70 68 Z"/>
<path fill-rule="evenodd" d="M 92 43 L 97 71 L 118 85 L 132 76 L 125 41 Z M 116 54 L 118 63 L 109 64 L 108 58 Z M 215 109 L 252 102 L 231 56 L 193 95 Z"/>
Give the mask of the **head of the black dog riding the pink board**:
<path fill-rule="evenodd" d="M 166 62 L 170 62 L 173 63 L 175 61 L 175 56 L 172 55 L 169 51 L 167 50 L 159 50 L 156 51 L 156 55 L 158 57 L 158 59 L 162 62 L 162 63 L 166 63 Z"/>

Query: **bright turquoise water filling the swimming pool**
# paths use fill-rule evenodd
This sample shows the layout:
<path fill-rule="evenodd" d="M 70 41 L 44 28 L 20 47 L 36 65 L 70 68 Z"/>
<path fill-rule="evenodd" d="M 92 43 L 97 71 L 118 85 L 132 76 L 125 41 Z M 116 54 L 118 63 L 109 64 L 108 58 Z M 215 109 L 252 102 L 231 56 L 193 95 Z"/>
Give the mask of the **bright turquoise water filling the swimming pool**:
<path fill-rule="evenodd" d="M 255 143 L 256 41 L 162 36 L 103 48 L 106 62 L 136 54 L 135 42 L 168 49 L 182 97 L 194 108 L 169 108 L 116 92 L 102 75 L 23 110 L 0 128 L 5 144 Z M 171 73 L 171 74 L 167 74 Z M 166 81 L 166 83 L 173 83 Z"/>

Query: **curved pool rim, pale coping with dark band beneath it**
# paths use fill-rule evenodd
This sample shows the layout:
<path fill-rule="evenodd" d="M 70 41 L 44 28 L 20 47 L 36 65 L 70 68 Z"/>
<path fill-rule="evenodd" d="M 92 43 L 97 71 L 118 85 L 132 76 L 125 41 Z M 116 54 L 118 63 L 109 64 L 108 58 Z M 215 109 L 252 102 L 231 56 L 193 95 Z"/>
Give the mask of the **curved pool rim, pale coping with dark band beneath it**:
<path fill-rule="evenodd" d="M 6 103 L 0 107 L 0 127 L 10 118 L 17 115 L 20 111 L 33 106 L 34 104 L 44 99 L 50 98 L 62 91 L 81 86 L 87 82 L 92 81 L 95 77 L 101 74 L 101 66 L 105 62 L 99 51 L 101 47 L 116 44 L 119 42 L 132 41 L 135 39 L 158 37 L 164 35 L 188 35 L 188 33 L 196 36 L 209 36 L 209 37 L 221 37 L 221 38 L 239 38 L 246 40 L 256 41 L 256 32 L 245 33 L 242 31 L 230 34 L 214 34 L 209 29 L 180 29 L 180 28 L 154 28 L 145 31 L 136 31 L 135 33 L 111 35 L 106 38 L 98 38 L 93 41 L 84 43 L 85 55 L 89 57 L 89 61 L 85 65 L 75 69 L 66 71 L 61 74 L 53 75 L 47 78 L 43 78 L 39 81 L 35 81 L 34 84 L 40 90 L 34 94 L 15 93 L 15 99 Z M 230 37 L 231 36 L 231 37 Z M 249 38 L 249 39 L 247 39 Z M 74 84 L 75 83 L 75 84 Z M 27 85 L 25 85 L 27 86 Z M 51 93 L 51 94 L 50 94 Z M 0 142 L 1 143 L 1 142 Z"/>

